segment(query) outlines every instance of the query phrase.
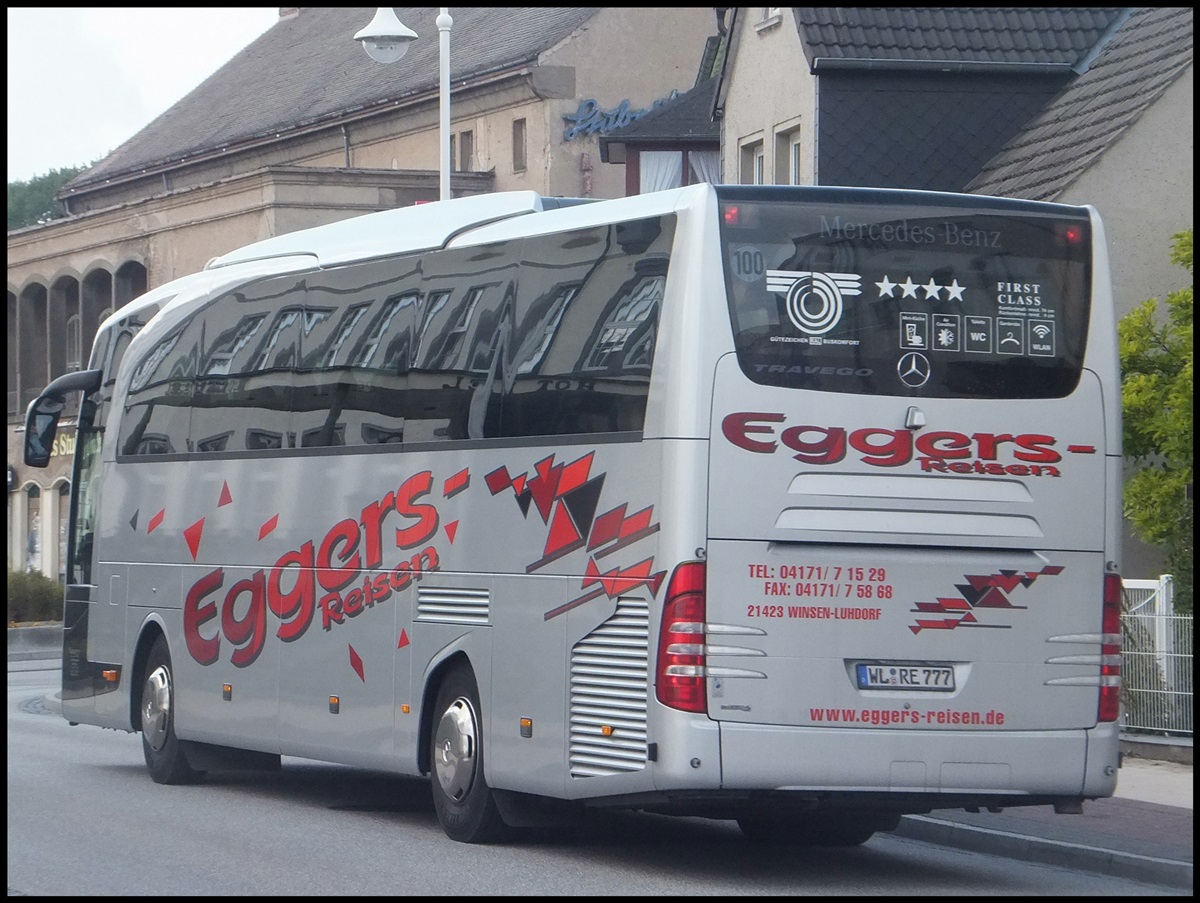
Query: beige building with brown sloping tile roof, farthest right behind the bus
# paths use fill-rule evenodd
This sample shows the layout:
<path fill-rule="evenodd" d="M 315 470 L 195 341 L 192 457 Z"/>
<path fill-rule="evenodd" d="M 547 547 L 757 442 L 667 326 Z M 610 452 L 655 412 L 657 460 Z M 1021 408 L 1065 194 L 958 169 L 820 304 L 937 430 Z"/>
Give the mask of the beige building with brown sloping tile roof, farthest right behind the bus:
<path fill-rule="evenodd" d="M 1193 227 L 1190 7 L 1144 7 L 967 184 L 980 195 L 1092 204 L 1118 312 L 1192 283 L 1169 264 Z"/>

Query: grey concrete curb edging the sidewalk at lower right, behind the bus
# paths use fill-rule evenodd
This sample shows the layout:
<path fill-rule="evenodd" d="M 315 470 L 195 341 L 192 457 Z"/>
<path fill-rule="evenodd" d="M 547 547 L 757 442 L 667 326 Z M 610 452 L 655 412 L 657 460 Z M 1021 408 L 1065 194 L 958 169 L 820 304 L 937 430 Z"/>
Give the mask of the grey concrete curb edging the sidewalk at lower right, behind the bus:
<path fill-rule="evenodd" d="M 1015 835 L 1008 831 L 991 831 L 972 825 L 960 825 L 930 815 L 905 815 L 892 833 L 913 841 L 925 841 L 941 847 L 954 847 L 972 853 L 1018 859 L 1025 862 L 1043 862 L 1050 866 L 1099 872 L 1114 878 L 1159 884 L 1171 887 L 1193 886 L 1190 862 L 1177 862 L 1134 853 L 1082 847 L 1062 841 Z"/>

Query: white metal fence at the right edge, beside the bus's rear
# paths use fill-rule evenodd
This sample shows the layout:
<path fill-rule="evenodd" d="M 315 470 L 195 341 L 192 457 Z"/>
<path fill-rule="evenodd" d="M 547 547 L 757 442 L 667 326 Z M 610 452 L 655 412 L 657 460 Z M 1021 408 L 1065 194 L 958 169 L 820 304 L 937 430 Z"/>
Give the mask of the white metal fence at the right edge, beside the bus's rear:
<path fill-rule="evenodd" d="M 1124 581 L 1122 728 L 1192 736 L 1192 615 L 1176 614 L 1171 578 Z"/>

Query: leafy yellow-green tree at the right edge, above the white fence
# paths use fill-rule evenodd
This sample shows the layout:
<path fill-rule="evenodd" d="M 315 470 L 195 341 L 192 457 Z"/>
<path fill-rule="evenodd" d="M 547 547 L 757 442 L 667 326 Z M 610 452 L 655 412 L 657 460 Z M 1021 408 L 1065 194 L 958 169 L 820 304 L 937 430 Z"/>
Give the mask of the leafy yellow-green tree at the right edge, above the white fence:
<path fill-rule="evenodd" d="M 1171 239 L 1171 263 L 1192 273 L 1192 229 Z M 1124 485 L 1134 533 L 1160 546 L 1175 578 L 1176 608 L 1192 611 L 1192 291 L 1171 292 L 1159 315 L 1151 298 L 1117 324 Z"/>

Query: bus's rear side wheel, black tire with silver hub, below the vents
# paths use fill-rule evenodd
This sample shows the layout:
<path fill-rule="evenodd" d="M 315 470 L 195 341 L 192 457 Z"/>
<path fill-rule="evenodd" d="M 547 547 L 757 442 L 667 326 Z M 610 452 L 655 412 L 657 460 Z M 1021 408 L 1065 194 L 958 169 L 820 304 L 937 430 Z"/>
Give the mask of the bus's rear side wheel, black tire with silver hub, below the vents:
<path fill-rule="evenodd" d="M 433 808 L 446 837 L 493 843 L 505 833 L 492 790 L 484 779 L 484 722 L 470 668 L 455 665 L 438 688 L 430 731 Z"/>

